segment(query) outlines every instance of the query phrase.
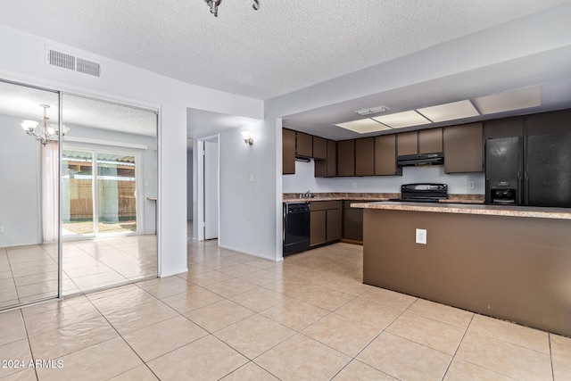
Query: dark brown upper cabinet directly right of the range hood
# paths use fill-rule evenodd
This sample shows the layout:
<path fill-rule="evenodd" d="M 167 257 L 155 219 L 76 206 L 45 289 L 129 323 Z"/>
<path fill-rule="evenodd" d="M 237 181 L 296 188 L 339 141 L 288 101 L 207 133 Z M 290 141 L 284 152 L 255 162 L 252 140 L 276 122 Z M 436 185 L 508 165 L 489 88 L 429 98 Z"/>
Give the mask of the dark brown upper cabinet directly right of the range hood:
<path fill-rule="evenodd" d="M 444 128 L 444 172 L 484 170 L 482 122 Z"/>

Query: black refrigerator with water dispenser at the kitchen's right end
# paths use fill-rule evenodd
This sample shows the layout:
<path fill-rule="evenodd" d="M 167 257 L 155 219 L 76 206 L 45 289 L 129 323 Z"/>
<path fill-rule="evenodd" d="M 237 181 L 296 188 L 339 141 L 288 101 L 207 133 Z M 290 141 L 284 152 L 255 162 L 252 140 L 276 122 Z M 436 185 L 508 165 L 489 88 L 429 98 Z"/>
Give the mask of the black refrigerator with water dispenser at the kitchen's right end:
<path fill-rule="evenodd" d="M 571 132 L 485 141 L 485 201 L 571 207 Z"/>

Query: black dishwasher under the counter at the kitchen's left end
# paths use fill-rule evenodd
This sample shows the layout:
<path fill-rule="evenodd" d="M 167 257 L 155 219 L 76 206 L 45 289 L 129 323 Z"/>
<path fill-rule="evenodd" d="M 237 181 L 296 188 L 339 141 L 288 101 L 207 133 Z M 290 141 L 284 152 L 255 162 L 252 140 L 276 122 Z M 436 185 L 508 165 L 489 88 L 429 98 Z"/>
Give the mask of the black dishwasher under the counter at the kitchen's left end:
<path fill-rule="evenodd" d="M 310 248 L 310 203 L 284 204 L 284 255 Z"/>

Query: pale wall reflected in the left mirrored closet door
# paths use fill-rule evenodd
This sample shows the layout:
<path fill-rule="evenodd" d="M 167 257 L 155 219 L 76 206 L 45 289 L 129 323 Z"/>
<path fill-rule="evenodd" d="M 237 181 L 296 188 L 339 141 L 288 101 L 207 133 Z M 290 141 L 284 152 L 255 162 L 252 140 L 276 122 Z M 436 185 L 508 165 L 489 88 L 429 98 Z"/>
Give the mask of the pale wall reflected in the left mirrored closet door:
<path fill-rule="evenodd" d="M 39 244 L 39 143 L 21 119 L 0 115 L 0 247 Z"/>

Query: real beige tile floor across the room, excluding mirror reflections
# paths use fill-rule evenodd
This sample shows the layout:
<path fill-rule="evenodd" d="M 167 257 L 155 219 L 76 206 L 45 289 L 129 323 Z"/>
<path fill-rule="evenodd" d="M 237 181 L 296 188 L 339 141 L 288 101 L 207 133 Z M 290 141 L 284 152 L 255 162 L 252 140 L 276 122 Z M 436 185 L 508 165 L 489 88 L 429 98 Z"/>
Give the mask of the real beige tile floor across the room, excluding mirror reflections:
<path fill-rule="evenodd" d="M 363 285 L 357 245 L 277 263 L 189 242 L 188 265 L 0 313 L 0 377 L 571 379 L 570 338 Z"/>

